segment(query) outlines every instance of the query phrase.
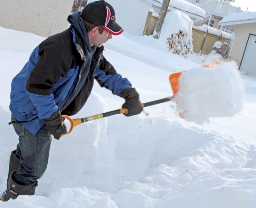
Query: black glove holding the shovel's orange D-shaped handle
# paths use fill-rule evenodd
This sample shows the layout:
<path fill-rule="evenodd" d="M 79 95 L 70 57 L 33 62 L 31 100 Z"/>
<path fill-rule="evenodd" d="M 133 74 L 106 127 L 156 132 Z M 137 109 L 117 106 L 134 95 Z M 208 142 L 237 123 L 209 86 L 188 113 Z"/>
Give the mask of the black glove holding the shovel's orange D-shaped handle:
<path fill-rule="evenodd" d="M 61 135 L 67 133 L 67 128 L 63 122 L 61 112 L 57 111 L 50 118 L 44 119 L 45 125 L 48 131 L 54 136 L 55 139 L 59 139 Z"/>

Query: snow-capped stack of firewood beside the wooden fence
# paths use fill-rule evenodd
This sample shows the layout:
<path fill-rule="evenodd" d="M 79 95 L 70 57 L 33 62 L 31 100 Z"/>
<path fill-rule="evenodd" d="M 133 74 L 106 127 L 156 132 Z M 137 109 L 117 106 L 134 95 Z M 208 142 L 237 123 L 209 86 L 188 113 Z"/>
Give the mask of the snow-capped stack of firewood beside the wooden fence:
<path fill-rule="evenodd" d="M 172 53 L 185 55 L 193 51 L 192 25 L 193 21 L 183 12 L 170 11 L 166 14 L 159 39 L 165 40 Z"/>

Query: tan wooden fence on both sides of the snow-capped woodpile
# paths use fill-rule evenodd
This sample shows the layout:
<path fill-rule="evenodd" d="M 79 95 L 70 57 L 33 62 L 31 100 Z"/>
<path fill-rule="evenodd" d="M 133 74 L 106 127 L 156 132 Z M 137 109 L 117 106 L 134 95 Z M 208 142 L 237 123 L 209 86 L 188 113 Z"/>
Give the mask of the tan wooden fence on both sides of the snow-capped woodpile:
<path fill-rule="evenodd" d="M 152 12 L 149 11 L 147 15 L 146 24 L 143 30 L 143 35 L 152 35 L 155 29 L 155 24 L 157 23 L 157 17 L 152 16 Z M 200 54 L 209 54 L 213 45 L 216 41 L 224 43 L 230 43 L 230 39 L 224 38 L 222 36 L 214 35 L 211 33 L 200 31 L 199 29 L 192 28 L 192 43 L 193 51 Z"/>

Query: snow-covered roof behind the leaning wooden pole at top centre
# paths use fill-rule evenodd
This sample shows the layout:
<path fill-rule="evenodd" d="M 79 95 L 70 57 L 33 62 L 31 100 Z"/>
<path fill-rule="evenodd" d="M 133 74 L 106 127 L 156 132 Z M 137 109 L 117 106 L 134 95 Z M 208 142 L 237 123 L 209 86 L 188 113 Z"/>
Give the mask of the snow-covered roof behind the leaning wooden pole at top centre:
<path fill-rule="evenodd" d="M 145 0 L 147 1 L 147 0 Z M 152 1 L 151 1 L 152 2 Z M 163 0 L 154 0 L 155 5 L 161 7 Z M 197 15 L 199 17 L 204 18 L 205 17 L 205 10 L 201 9 L 198 6 L 193 5 L 190 2 L 187 2 L 185 0 L 170 0 L 169 3 L 170 7 L 189 12 L 193 15 Z"/>

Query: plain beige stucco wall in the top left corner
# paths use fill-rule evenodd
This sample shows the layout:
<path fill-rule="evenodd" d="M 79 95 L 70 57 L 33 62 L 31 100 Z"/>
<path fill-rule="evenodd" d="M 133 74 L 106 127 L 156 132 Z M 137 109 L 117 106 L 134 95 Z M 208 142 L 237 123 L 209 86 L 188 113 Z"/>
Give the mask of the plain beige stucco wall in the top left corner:
<path fill-rule="evenodd" d="M 73 0 L 1 0 L 0 26 L 48 37 L 64 31 Z"/>

